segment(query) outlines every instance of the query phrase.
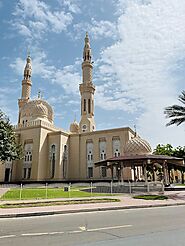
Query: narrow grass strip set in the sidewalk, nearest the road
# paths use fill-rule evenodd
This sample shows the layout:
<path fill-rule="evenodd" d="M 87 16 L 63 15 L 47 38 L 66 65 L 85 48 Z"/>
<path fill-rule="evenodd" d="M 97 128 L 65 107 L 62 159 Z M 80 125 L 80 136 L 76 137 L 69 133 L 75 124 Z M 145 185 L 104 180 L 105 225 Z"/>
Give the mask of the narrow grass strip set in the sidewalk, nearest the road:
<path fill-rule="evenodd" d="M 28 202 L 28 203 L 6 203 L 0 205 L 0 208 L 26 208 L 26 207 L 43 207 L 43 206 L 57 206 L 57 205 L 71 205 L 71 204 L 89 204 L 89 203 L 105 203 L 105 202 L 119 202 L 119 199 L 111 198 L 96 198 L 83 200 L 66 200 L 66 201 L 45 201 L 45 202 Z"/>

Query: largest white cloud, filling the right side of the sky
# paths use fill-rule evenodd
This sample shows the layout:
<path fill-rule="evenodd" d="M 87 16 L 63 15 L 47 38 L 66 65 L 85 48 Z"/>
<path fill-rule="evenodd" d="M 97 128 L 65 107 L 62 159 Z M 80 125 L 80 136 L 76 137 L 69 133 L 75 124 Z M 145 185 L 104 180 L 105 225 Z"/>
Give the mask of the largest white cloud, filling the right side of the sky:
<path fill-rule="evenodd" d="M 117 24 L 119 41 L 102 52 L 99 68 L 100 78 L 114 77 L 109 87 L 113 96 L 106 96 L 106 87 L 101 93 L 105 99 L 99 106 L 107 109 L 122 106 L 123 111 L 134 110 L 134 114 L 142 110 L 137 124 L 142 136 L 153 145 L 164 141 L 184 144 L 184 128 L 166 128 L 163 110 L 180 94 L 174 67 L 185 53 L 185 2 L 120 0 L 119 3 L 119 8 L 122 7 Z M 114 101 L 117 89 L 123 91 L 124 99 L 119 96 Z"/>

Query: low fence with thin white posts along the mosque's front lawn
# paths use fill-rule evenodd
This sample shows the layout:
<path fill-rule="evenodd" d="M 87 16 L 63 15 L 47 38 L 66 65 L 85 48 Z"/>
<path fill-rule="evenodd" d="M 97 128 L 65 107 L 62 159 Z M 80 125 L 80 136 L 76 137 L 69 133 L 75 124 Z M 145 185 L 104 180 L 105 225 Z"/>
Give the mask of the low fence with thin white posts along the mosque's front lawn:
<path fill-rule="evenodd" d="M 1 184 L 0 188 L 14 189 L 15 199 L 48 199 L 108 196 L 120 193 L 164 192 L 161 182 L 86 182 L 86 183 L 32 183 Z M 13 199 L 11 194 L 0 198 Z"/>

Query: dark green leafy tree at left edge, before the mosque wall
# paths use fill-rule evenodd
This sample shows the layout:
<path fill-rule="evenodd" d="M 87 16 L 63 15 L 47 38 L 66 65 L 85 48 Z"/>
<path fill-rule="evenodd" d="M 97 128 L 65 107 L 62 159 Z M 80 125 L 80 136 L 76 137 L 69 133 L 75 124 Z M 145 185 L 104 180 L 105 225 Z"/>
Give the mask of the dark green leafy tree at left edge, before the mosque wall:
<path fill-rule="evenodd" d="M 16 136 L 8 117 L 0 110 L 0 161 L 21 158 L 21 145 L 16 142 Z"/>

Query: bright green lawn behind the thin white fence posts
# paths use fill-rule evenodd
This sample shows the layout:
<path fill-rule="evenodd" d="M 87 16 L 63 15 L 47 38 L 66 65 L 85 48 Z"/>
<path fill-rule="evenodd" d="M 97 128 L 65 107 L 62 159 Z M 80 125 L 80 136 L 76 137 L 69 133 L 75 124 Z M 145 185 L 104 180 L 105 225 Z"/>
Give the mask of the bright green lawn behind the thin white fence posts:
<path fill-rule="evenodd" d="M 105 196 L 110 194 L 102 194 L 102 193 L 92 193 L 92 196 Z M 22 189 L 20 195 L 20 189 L 11 189 L 7 191 L 2 197 L 1 200 L 19 200 L 21 199 L 45 199 L 45 198 L 75 198 L 75 197 L 91 197 L 90 192 L 79 190 L 79 188 L 73 188 L 68 191 L 64 191 L 63 188 L 27 188 Z"/>

